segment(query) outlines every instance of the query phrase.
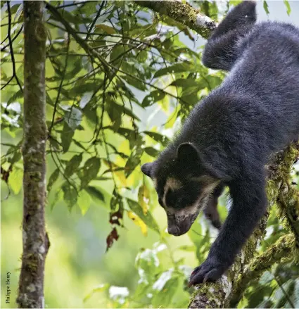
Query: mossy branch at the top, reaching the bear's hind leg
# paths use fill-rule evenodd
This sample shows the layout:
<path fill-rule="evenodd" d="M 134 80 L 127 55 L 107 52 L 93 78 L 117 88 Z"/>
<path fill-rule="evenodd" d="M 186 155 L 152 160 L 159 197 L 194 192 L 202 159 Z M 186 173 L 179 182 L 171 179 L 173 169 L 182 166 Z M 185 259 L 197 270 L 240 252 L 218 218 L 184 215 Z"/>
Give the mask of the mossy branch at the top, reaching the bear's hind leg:
<path fill-rule="evenodd" d="M 192 30 L 195 30 L 202 37 L 207 39 L 210 32 L 215 29 L 217 23 L 215 20 L 210 19 L 200 11 L 196 10 L 189 4 L 183 4 L 177 0 L 165 1 L 134 1 L 139 6 L 151 8 L 151 10 L 167 15 L 179 23 L 186 25 Z"/>

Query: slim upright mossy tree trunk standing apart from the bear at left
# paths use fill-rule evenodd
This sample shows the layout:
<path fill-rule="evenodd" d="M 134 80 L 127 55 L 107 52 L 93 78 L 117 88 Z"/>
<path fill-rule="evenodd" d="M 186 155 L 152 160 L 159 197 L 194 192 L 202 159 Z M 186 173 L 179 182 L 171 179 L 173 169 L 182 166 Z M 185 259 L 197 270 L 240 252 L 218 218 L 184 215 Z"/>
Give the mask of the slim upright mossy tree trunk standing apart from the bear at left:
<path fill-rule="evenodd" d="M 49 248 L 45 207 L 46 29 L 42 1 L 24 1 L 23 256 L 17 303 L 44 308 L 44 263 Z"/>

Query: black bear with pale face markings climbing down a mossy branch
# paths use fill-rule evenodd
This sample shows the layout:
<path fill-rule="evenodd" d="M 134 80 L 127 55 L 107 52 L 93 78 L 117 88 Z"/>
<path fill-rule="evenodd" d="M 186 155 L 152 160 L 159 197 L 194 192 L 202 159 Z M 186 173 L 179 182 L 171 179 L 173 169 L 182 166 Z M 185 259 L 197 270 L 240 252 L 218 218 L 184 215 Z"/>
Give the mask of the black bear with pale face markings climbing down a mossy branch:
<path fill-rule="evenodd" d="M 141 167 L 176 236 L 201 208 L 220 227 L 217 198 L 229 187 L 229 215 L 190 285 L 215 281 L 234 263 L 267 208 L 265 165 L 299 137 L 299 30 L 255 22 L 255 2 L 244 1 L 215 29 L 203 63 L 229 70 L 227 77 L 193 108 L 159 158 Z"/>

